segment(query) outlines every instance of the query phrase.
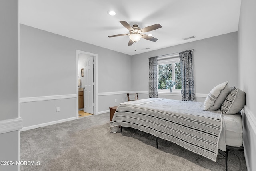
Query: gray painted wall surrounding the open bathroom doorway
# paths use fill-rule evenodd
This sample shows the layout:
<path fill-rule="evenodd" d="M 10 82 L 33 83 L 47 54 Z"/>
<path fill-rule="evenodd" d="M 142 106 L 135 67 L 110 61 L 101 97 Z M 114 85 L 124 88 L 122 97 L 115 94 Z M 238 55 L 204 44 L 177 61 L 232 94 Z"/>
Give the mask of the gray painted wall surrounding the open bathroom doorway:
<path fill-rule="evenodd" d="M 98 93 L 131 89 L 129 55 L 20 24 L 20 97 L 76 94 L 76 50 L 98 54 Z M 74 99 L 20 103 L 24 127 L 75 117 Z M 115 99 L 111 96 L 106 103 L 100 96 L 98 111 L 120 102 Z"/>

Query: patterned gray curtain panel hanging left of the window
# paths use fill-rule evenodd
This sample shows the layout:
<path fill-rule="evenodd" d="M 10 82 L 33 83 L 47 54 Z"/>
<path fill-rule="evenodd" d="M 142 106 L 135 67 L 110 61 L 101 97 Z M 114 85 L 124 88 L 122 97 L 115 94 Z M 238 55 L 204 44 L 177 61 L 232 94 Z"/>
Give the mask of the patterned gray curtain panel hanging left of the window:
<path fill-rule="evenodd" d="M 149 59 L 149 79 L 148 79 L 148 95 L 149 98 L 157 98 L 157 56 Z"/>

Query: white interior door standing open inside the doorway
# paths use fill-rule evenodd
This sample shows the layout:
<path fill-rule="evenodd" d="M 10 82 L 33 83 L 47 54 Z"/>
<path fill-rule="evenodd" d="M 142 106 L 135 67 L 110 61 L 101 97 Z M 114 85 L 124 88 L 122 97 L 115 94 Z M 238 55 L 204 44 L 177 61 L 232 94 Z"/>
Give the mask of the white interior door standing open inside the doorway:
<path fill-rule="evenodd" d="M 86 57 L 84 64 L 84 112 L 94 114 L 93 56 Z"/>

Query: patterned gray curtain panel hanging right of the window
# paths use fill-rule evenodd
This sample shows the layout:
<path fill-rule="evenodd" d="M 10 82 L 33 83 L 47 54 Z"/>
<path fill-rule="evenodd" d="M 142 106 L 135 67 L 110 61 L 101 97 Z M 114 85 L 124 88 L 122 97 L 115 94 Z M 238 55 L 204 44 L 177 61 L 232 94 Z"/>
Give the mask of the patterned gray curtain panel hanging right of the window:
<path fill-rule="evenodd" d="M 180 69 L 182 76 L 181 96 L 183 101 L 196 101 L 192 65 L 192 50 L 180 52 Z"/>

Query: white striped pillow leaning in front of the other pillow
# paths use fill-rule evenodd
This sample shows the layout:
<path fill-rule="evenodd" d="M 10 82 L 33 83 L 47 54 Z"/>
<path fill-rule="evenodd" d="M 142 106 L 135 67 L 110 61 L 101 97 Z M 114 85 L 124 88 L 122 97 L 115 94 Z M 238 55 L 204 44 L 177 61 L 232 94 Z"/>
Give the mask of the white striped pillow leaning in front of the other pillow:
<path fill-rule="evenodd" d="M 214 87 L 204 101 L 204 110 L 215 111 L 220 109 L 220 106 L 230 93 L 231 89 L 232 88 L 228 86 L 228 81 Z"/>

